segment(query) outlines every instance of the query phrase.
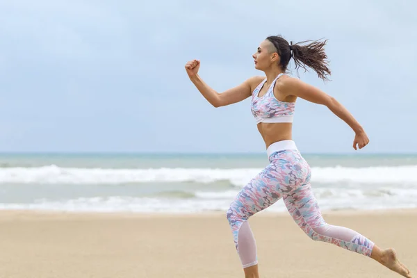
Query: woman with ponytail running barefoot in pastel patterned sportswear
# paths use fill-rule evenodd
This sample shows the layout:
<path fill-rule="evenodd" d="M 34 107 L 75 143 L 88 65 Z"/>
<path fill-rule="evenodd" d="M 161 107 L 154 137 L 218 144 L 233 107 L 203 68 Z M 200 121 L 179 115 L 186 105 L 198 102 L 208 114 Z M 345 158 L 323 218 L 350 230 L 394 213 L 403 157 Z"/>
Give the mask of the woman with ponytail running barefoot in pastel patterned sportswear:
<path fill-rule="evenodd" d="M 404 277 L 409 270 L 398 261 L 393 249 L 381 250 L 357 231 L 327 224 L 310 186 L 309 164 L 298 152 L 292 140 L 292 122 L 297 97 L 329 108 L 354 131 L 354 149 L 368 145 L 369 139 L 352 115 L 329 95 L 286 74 L 288 63 L 294 59 L 295 69 L 310 67 L 321 79 L 331 74 L 324 51 L 326 42 L 288 44 L 280 36 L 270 36 L 259 45 L 254 58 L 255 68 L 265 77 L 254 76 L 223 93 L 215 92 L 198 76 L 200 62 L 191 60 L 186 72 L 195 87 L 213 106 L 227 106 L 252 97 L 251 110 L 259 132 L 265 141 L 270 164 L 254 177 L 236 196 L 227 211 L 236 250 L 245 277 L 259 277 L 256 243 L 247 220 L 279 199 L 295 222 L 313 240 L 340 246 L 375 259 Z M 304 44 L 304 45 L 302 45 Z"/>

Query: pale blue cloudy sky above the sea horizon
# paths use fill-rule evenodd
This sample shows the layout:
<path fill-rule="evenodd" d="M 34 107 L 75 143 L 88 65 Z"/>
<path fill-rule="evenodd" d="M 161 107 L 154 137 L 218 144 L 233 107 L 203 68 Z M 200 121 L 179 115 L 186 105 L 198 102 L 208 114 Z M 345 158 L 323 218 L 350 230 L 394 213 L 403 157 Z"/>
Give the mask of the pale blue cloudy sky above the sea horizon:
<path fill-rule="evenodd" d="M 223 92 L 250 76 L 268 35 L 328 40 L 332 81 L 370 144 L 417 152 L 415 1 L 0 0 L 0 152 L 260 153 L 250 100 L 213 108 L 184 65 Z M 291 62 L 291 74 L 297 72 Z M 351 153 L 354 133 L 297 100 L 304 153 Z"/>

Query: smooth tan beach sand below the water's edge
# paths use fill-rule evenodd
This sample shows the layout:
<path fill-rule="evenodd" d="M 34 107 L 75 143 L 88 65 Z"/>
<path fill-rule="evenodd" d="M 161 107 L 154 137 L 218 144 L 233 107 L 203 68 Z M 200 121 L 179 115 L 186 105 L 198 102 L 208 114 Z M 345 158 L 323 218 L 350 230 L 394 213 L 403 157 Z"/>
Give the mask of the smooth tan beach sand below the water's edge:
<path fill-rule="evenodd" d="M 417 211 L 323 213 L 394 247 L 417 273 Z M 288 213 L 250 219 L 263 278 L 400 277 L 366 256 L 315 242 Z M 0 212 L 0 277 L 244 277 L 224 213 Z"/>

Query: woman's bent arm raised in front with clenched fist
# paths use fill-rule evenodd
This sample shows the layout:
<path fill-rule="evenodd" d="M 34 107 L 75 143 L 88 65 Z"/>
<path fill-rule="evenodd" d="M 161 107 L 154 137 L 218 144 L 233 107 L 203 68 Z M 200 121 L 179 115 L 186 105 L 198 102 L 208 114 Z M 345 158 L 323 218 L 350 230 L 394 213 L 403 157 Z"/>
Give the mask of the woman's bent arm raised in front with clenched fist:
<path fill-rule="evenodd" d="M 252 95 L 251 83 L 258 77 L 247 79 L 242 84 L 231 88 L 222 93 L 218 93 L 208 86 L 202 78 L 197 74 L 199 70 L 199 60 L 192 60 L 186 64 L 186 71 L 197 90 L 203 97 L 214 107 L 227 106 L 243 101 Z"/>

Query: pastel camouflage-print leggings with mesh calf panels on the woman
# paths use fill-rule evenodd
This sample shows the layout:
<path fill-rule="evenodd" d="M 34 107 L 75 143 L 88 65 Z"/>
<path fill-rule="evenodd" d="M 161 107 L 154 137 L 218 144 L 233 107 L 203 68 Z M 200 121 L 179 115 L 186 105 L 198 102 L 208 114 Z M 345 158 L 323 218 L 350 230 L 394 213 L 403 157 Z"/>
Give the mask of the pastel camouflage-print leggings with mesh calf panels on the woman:
<path fill-rule="evenodd" d="M 269 161 L 270 164 L 238 193 L 227 211 L 243 268 L 258 263 L 255 239 L 247 220 L 281 198 L 295 223 L 313 240 L 370 256 L 372 241 L 352 229 L 327 224 L 322 218 L 310 186 L 310 167 L 297 149 L 275 152 Z"/>

